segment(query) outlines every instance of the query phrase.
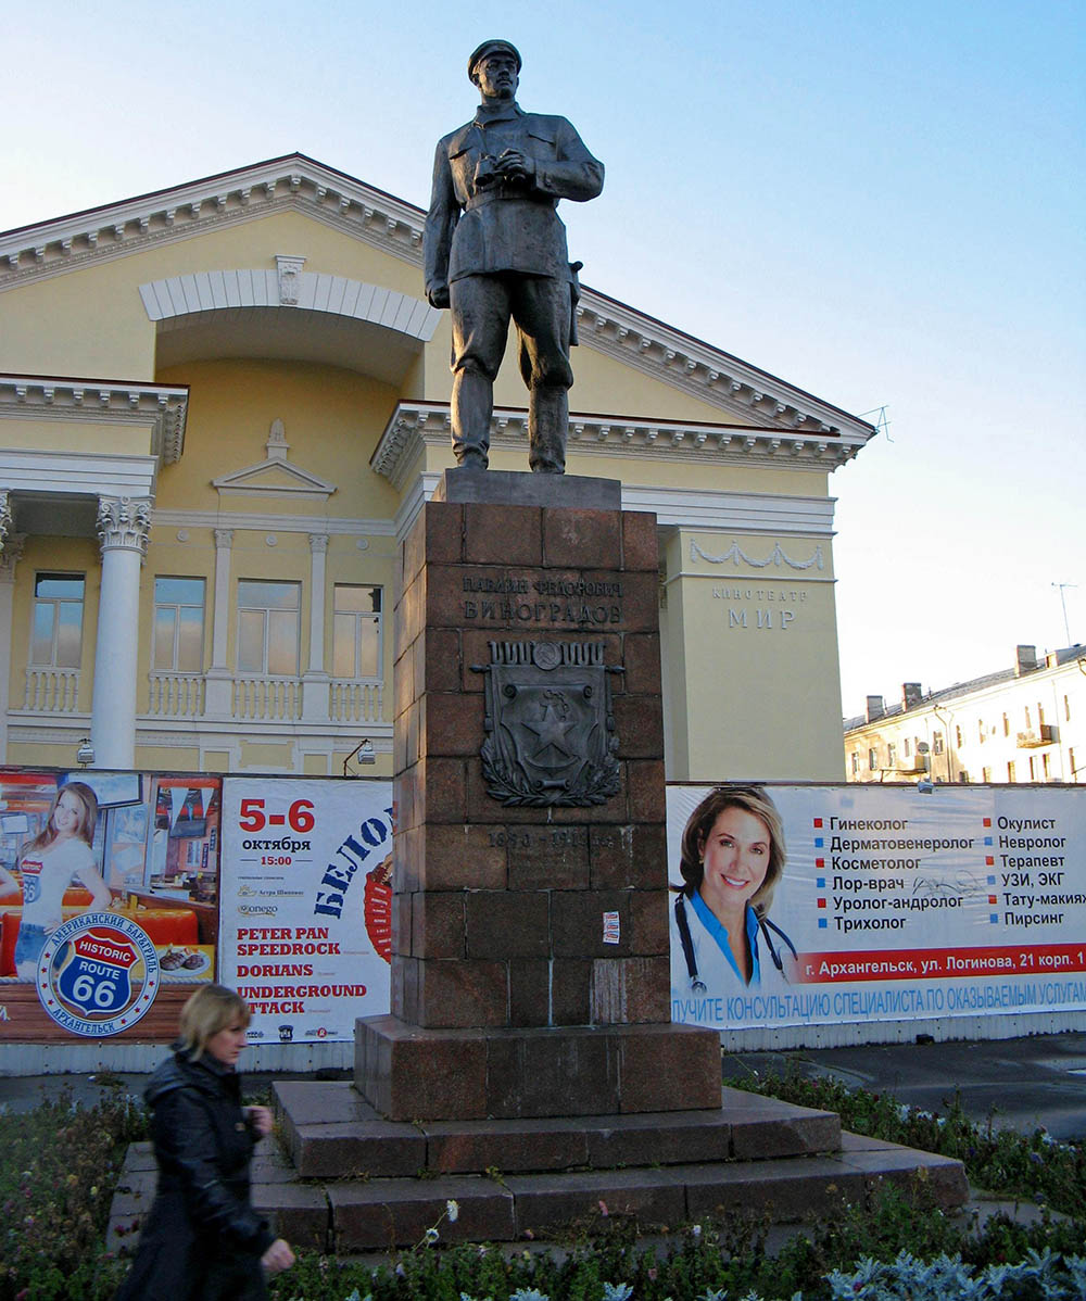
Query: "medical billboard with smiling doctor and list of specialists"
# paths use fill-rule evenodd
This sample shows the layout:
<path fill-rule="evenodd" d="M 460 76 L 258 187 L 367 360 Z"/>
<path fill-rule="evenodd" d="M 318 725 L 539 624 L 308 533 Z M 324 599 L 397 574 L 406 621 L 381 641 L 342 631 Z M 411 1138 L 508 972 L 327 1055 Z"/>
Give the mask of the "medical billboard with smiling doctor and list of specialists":
<path fill-rule="evenodd" d="M 669 786 L 672 1019 L 1086 1008 L 1086 790 Z"/>

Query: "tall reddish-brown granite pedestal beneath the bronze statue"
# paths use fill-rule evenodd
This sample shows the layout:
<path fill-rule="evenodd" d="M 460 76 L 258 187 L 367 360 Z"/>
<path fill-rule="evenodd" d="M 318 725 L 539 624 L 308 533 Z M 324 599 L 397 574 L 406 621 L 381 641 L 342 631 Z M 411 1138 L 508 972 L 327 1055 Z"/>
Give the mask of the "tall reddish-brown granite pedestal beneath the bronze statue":
<path fill-rule="evenodd" d="M 719 1106 L 717 1034 L 670 1023 L 657 527 L 619 506 L 618 483 L 450 471 L 403 544 L 391 1015 L 358 1023 L 355 1072 L 391 1120 Z M 514 725 L 486 673 L 559 660 L 602 665 L 597 732 L 561 692 L 519 726 L 559 774 L 606 732 L 592 800 L 519 773 L 496 798 L 484 742 Z"/>

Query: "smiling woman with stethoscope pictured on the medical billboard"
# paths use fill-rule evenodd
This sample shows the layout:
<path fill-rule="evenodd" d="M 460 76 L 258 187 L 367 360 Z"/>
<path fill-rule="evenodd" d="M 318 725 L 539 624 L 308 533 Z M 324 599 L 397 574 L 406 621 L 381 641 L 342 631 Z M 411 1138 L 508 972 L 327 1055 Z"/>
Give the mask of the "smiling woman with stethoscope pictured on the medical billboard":
<path fill-rule="evenodd" d="M 671 942 L 675 990 L 719 994 L 787 980 L 796 950 L 769 920 L 784 873 L 784 827 L 760 786 L 719 787 L 691 814 L 682 840 Z"/>

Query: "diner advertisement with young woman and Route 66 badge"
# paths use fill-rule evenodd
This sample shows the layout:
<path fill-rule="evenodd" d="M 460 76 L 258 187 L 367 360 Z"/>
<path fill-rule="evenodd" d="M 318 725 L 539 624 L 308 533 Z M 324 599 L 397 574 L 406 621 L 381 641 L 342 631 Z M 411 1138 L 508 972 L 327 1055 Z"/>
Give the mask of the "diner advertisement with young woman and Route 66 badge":
<path fill-rule="evenodd" d="M 215 978 L 220 794 L 217 777 L 0 769 L 0 1039 L 137 1020 L 155 1037 L 173 986 Z"/>

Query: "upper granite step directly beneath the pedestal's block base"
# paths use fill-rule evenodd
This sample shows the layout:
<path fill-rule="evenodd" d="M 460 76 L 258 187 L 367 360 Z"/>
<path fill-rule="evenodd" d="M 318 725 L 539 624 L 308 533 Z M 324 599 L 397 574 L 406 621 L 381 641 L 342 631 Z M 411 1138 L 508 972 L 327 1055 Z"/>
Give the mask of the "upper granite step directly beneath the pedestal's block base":
<path fill-rule="evenodd" d="M 524 1120 L 385 1120 L 347 1082 L 280 1082 L 274 1108 L 303 1179 L 502 1175 L 835 1151 L 840 1120 L 737 1089 L 701 1111 Z"/>

